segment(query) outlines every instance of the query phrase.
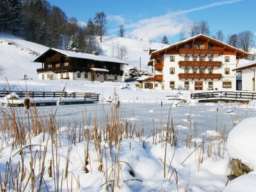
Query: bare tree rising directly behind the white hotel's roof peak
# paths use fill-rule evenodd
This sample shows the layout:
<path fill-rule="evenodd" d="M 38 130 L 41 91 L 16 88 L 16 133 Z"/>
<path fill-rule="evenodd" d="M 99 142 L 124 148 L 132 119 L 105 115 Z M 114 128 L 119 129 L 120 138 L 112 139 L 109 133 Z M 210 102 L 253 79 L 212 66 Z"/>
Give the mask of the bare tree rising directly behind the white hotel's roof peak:
<path fill-rule="evenodd" d="M 200 22 L 193 22 L 191 24 L 191 30 L 189 32 L 191 36 L 199 35 L 199 34 L 204 34 L 209 36 L 210 35 L 210 28 L 209 24 L 205 20 L 201 20 Z"/>

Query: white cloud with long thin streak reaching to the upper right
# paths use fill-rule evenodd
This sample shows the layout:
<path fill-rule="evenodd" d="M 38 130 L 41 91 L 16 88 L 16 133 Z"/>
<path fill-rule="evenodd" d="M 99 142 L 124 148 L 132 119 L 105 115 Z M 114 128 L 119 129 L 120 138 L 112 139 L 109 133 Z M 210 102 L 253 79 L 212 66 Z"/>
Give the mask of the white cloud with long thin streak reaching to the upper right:
<path fill-rule="evenodd" d="M 129 29 L 127 35 L 132 38 L 159 38 L 166 36 L 174 36 L 182 31 L 186 31 L 189 26 L 189 19 L 186 17 L 186 13 L 196 12 L 214 6 L 221 6 L 224 4 L 237 3 L 243 0 L 234 1 L 220 1 L 197 8 L 191 8 L 189 10 L 181 10 L 178 12 L 167 13 L 158 17 L 152 17 L 148 19 L 139 20 L 136 23 L 126 25 L 125 28 Z"/>

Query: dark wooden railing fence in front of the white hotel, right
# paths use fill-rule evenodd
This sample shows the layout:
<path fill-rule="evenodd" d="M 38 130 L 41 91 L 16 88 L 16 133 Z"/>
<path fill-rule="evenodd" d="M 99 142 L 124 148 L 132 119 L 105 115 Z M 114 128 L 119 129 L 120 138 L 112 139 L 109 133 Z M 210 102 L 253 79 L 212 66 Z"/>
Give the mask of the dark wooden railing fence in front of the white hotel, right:
<path fill-rule="evenodd" d="M 256 92 L 197 92 L 191 93 L 191 99 L 199 100 L 253 100 Z"/>

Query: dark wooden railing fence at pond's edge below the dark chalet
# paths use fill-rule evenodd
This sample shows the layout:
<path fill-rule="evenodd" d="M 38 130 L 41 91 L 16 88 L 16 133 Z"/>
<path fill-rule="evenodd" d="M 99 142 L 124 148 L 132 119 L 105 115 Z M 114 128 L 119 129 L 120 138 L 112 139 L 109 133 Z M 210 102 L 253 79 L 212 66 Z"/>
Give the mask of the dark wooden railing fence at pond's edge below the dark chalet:
<path fill-rule="evenodd" d="M 20 92 L 20 91 L 3 91 L 0 90 L 0 98 L 4 97 L 6 95 L 9 95 L 10 93 L 16 93 L 20 98 L 24 98 L 26 96 L 26 92 Z M 29 97 L 60 97 L 62 92 L 29 92 Z M 97 93 L 92 92 L 63 92 L 62 97 L 63 98 L 90 98 L 95 99 L 99 101 L 99 95 Z"/>

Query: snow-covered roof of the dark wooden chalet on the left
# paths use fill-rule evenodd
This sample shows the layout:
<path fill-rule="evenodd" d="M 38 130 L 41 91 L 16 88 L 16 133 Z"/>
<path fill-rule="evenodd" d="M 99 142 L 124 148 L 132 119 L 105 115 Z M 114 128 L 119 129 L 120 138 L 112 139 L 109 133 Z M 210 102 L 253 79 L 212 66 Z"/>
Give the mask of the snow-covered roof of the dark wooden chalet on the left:
<path fill-rule="evenodd" d="M 129 65 L 128 62 L 123 61 L 123 60 L 118 60 L 111 56 L 102 56 L 102 55 L 95 55 L 95 54 L 88 54 L 88 53 L 74 52 L 74 51 L 65 51 L 65 50 L 54 49 L 54 48 L 51 48 L 48 51 L 50 51 L 50 50 L 60 52 L 61 54 L 65 54 L 66 56 L 68 56 L 70 58 L 81 58 L 81 59 L 94 60 L 94 61 L 107 61 L 107 62 L 122 63 L 125 65 Z M 48 52 L 48 51 L 46 51 L 46 52 Z M 42 54 L 42 55 L 44 55 L 44 54 Z M 38 58 L 40 58 L 41 56 L 39 56 Z M 36 58 L 35 62 L 37 62 L 38 58 Z"/>

